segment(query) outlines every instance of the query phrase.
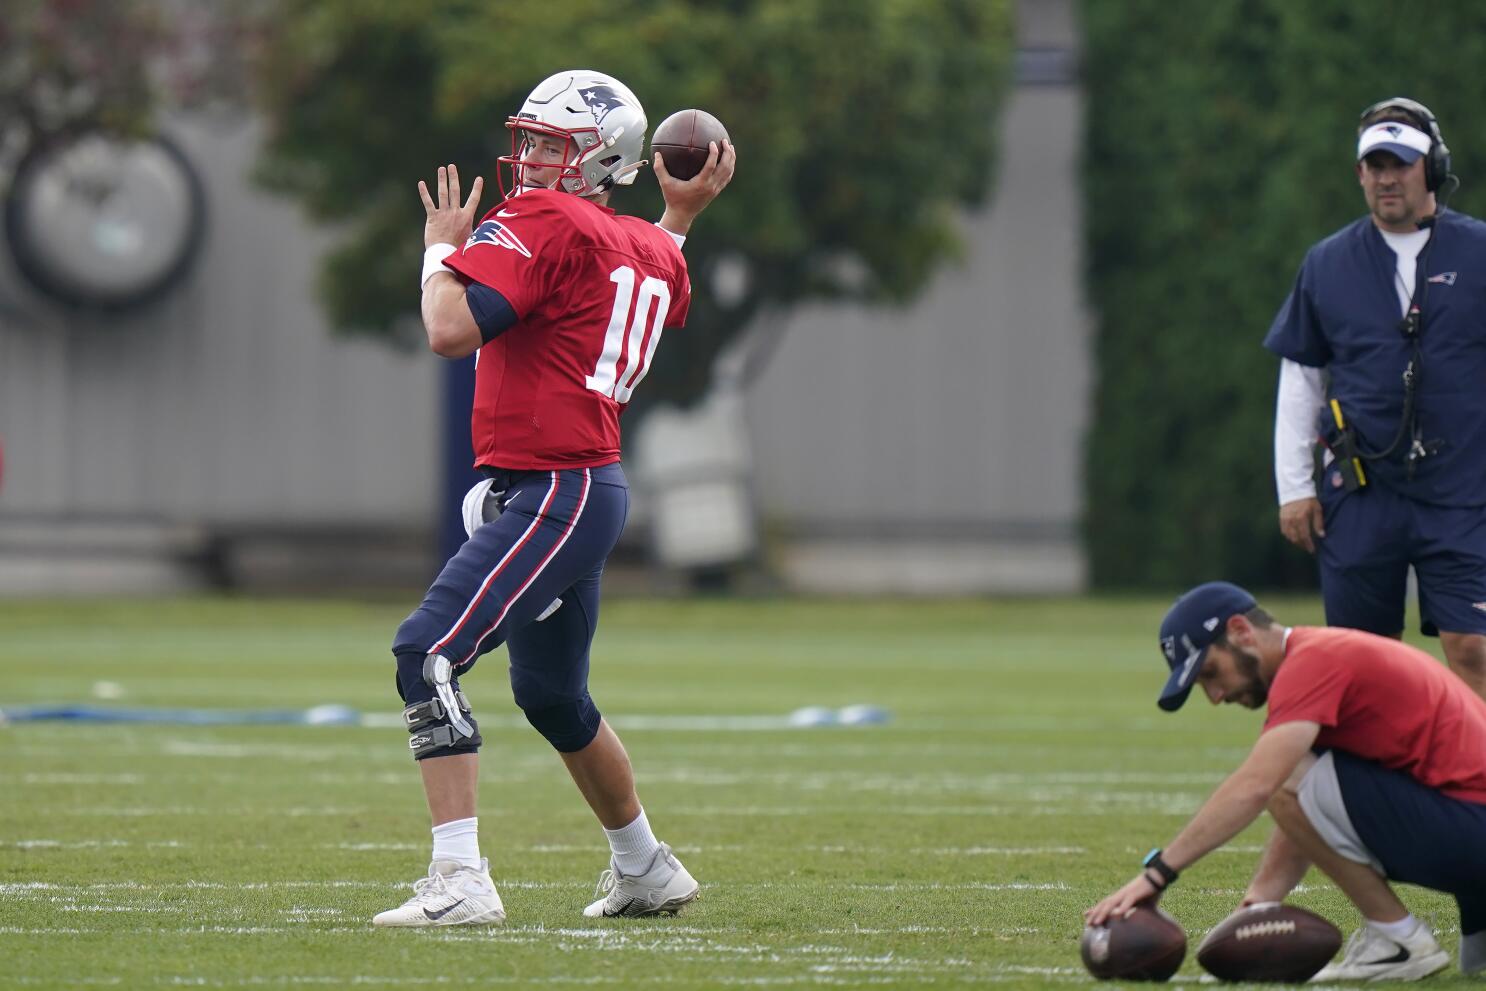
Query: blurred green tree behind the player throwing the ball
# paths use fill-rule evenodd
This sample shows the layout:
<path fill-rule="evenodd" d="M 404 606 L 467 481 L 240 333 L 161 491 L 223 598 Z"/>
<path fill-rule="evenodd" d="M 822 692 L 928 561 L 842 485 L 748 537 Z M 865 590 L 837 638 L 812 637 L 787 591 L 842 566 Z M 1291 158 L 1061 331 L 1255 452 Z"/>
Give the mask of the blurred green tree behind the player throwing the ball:
<path fill-rule="evenodd" d="M 342 224 L 321 290 L 351 331 L 416 318 L 416 181 L 455 162 L 465 189 L 486 177 L 489 208 L 505 117 L 548 74 L 617 76 L 652 128 L 721 117 L 737 177 L 687 242 L 701 291 L 640 394 L 675 401 L 759 311 L 905 300 L 954 257 L 955 209 L 991 183 L 1012 46 L 1010 0 L 281 0 L 272 19 L 257 174 Z M 658 217 L 660 190 L 642 177 L 614 207 Z M 737 260 L 747 291 L 709 291 Z"/>

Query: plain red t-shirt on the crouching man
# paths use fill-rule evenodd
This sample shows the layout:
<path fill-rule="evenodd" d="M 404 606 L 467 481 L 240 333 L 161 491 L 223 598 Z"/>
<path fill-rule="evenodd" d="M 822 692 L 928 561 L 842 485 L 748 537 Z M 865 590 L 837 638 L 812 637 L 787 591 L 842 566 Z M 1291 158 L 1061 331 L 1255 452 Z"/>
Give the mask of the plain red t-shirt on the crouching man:
<path fill-rule="evenodd" d="M 1452 798 L 1486 802 L 1486 701 L 1443 664 L 1360 630 L 1296 627 L 1265 730 L 1318 722 L 1336 747 Z"/>

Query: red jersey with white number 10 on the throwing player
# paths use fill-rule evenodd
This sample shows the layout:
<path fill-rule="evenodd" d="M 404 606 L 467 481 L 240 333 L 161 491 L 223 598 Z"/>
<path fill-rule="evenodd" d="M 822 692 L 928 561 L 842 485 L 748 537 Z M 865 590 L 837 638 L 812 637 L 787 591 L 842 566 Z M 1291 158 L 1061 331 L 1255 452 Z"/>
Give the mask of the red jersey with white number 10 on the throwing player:
<path fill-rule="evenodd" d="M 571 193 L 507 199 L 444 261 L 496 290 L 517 322 L 476 358 L 474 464 L 596 468 L 620 459 L 620 413 L 663 327 L 691 303 L 669 233 Z"/>

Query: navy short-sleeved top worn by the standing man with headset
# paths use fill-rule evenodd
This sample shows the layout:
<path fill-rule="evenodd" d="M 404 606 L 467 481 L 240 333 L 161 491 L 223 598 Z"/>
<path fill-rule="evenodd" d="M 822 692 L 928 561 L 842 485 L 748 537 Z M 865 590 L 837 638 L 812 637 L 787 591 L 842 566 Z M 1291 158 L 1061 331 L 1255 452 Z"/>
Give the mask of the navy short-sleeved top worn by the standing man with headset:
<path fill-rule="evenodd" d="M 1415 275 L 1424 300 L 1416 409 L 1424 440 L 1441 444 L 1412 480 L 1407 438 L 1388 461 L 1367 462 L 1367 477 L 1421 502 L 1486 505 L 1486 223 L 1441 209 L 1419 257 L 1428 272 Z M 1281 358 L 1330 371 L 1328 397 L 1364 450 L 1386 447 L 1403 419 L 1410 345 L 1398 330 L 1395 270 L 1372 217 L 1342 227 L 1306 253 L 1265 337 Z"/>

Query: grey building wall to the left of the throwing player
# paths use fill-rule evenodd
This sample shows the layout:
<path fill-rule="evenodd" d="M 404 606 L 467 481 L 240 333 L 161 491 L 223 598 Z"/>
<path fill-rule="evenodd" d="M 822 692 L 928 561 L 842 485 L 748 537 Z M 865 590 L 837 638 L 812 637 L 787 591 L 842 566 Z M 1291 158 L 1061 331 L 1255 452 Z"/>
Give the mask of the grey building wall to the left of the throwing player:
<path fill-rule="evenodd" d="M 431 526 L 438 358 L 330 334 L 312 293 L 327 239 L 250 184 L 253 126 L 171 134 L 208 229 L 162 302 L 68 312 L 0 253 L 0 590 L 189 584 L 175 562 L 221 551 L 223 532 L 257 532 L 226 551 L 260 557 L 269 532 L 284 551 L 311 532 L 383 533 L 406 560 Z"/>

